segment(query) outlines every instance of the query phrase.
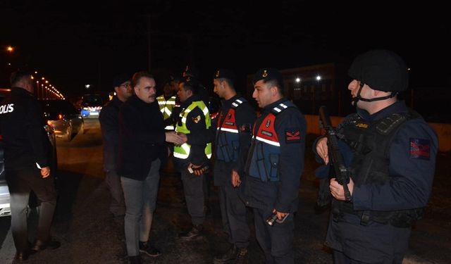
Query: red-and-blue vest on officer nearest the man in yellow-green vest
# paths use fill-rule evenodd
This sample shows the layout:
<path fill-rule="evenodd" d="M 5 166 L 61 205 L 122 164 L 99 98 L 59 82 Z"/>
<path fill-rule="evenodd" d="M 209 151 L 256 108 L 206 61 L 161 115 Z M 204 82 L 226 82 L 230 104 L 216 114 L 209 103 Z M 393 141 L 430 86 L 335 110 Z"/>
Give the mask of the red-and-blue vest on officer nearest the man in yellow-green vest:
<path fill-rule="evenodd" d="M 223 116 L 222 112 L 219 115 L 218 127 L 216 128 L 216 159 L 218 161 L 232 162 L 238 158 L 240 135 L 235 120 L 235 111 L 245 101 L 244 98 L 236 99 L 226 116 Z"/>

